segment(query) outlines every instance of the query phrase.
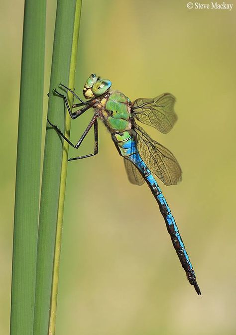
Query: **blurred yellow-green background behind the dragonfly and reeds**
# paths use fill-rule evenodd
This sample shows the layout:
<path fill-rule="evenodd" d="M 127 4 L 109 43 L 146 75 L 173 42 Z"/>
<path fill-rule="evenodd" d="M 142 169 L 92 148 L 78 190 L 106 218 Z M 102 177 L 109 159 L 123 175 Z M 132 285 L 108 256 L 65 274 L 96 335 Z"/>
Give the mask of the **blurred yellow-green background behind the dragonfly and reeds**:
<path fill-rule="evenodd" d="M 44 115 L 56 9 L 55 0 L 48 2 Z M 76 90 L 82 96 L 96 72 L 131 100 L 177 97 L 174 129 L 145 129 L 182 167 L 179 185 L 160 186 L 202 296 L 186 280 L 150 190 L 129 184 L 100 122 L 99 155 L 68 167 L 57 335 L 236 334 L 236 7 L 197 10 L 186 3 L 84 0 Z M 0 11 L 0 334 L 9 329 L 23 5 L 3 1 Z M 74 142 L 91 115 L 72 123 Z M 44 117 L 44 130 L 45 124 Z M 92 151 L 91 132 L 80 153 Z"/>

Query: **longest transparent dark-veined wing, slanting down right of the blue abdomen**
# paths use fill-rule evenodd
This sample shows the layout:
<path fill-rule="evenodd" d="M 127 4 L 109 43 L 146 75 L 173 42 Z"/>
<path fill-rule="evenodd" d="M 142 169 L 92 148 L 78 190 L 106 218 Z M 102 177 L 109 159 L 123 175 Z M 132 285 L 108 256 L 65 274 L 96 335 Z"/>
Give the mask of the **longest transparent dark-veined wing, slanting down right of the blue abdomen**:
<path fill-rule="evenodd" d="M 182 179 L 182 171 L 175 156 L 160 143 L 154 141 L 139 125 L 134 124 L 137 134 L 137 148 L 147 167 L 165 185 L 177 184 Z"/>

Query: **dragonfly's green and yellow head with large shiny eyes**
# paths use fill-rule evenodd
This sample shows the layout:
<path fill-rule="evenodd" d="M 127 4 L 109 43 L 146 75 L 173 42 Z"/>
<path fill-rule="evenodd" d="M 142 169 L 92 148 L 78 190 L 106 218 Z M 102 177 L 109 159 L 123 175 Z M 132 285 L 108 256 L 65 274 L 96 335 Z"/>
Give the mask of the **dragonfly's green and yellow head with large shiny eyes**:
<path fill-rule="evenodd" d="M 94 98 L 102 96 L 106 93 L 110 87 L 112 86 L 112 82 L 108 79 L 101 79 L 96 74 L 92 73 L 92 75 L 87 79 L 83 94 L 86 99 Z"/>

